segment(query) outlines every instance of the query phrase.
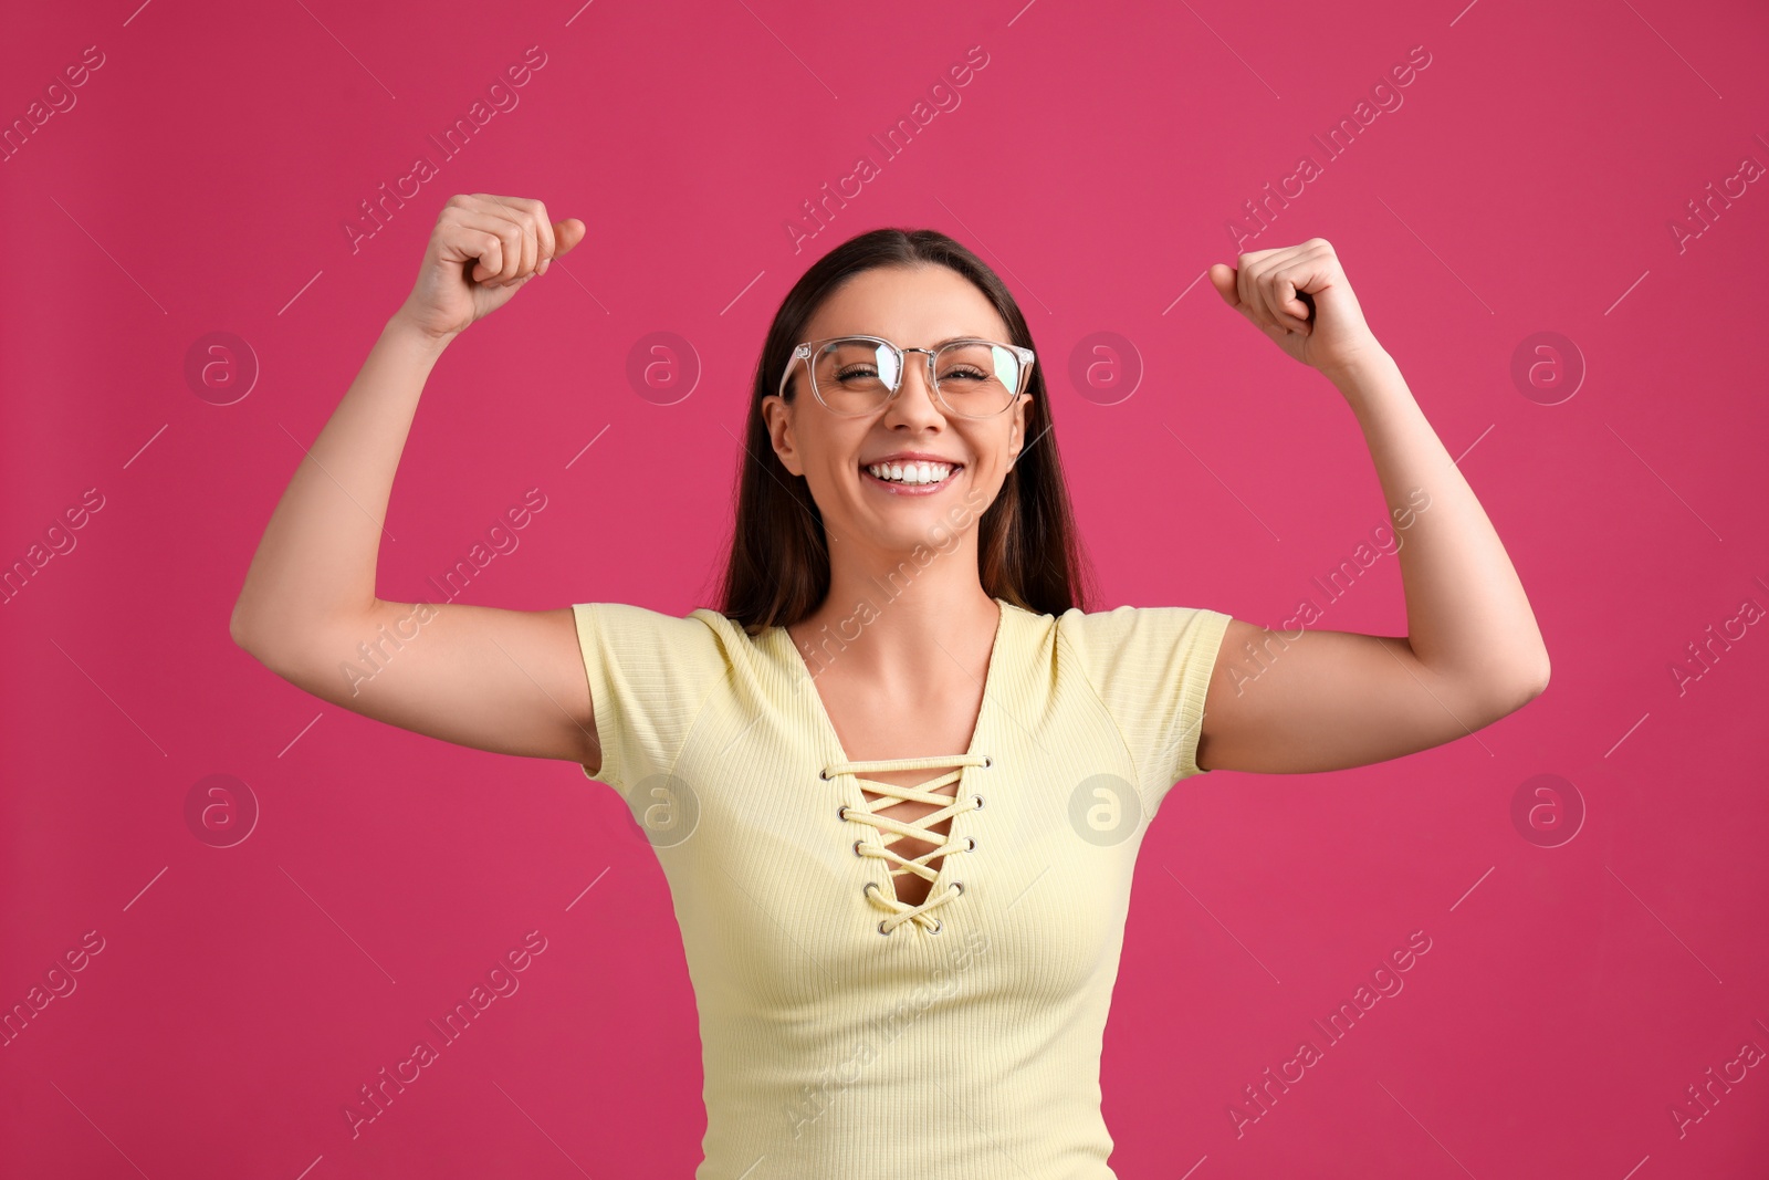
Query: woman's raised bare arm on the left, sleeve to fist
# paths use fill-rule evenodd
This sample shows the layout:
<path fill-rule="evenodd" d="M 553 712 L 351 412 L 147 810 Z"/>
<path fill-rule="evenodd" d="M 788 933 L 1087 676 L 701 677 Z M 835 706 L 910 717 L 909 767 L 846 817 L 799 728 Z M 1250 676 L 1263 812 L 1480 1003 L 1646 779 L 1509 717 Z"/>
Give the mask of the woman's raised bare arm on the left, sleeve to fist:
<path fill-rule="evenodd" d="M 295 467 L 234 605 L 234 642 L 336 706 L 444 741 L 598 770 L 570 607 L 384 601 L 375 561 L 393 474 L 449 340 L 584 237 L 536 200 L 451 196 L 417 283 Z"/>

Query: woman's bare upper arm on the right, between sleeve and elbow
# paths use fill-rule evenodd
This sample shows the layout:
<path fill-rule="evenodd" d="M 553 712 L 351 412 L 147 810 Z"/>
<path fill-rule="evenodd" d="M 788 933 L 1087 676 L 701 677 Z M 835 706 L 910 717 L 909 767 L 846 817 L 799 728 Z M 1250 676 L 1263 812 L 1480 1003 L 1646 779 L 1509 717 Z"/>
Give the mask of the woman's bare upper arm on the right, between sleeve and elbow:
<path fill-rule="evenodd" d="M 1205 697 L 1198 764 L 1302 773 L 1367 766 L 1491 725 L 1537 690 L 1431 672 L 1405 637 L 1231 619 Z"/>

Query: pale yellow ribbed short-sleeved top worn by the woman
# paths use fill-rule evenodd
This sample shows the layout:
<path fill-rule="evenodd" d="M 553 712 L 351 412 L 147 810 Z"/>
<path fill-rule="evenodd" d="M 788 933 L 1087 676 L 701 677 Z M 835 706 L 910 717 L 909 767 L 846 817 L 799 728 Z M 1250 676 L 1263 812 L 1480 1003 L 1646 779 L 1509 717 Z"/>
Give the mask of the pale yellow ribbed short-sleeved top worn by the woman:
<path fill-rule="evenodd" d="M 651 835 L 699 1003 L 695 1180 L 1113 1178 L 1099 1069 L 1130 876 L 1201 773 L 1229 616 L 996 601 L 969 750 L 907 764 L 847 759 L 784 628 L 573 609 L 591 778 Z M 860 780 L 892 766 L 959 784 L 922 908 L 854 849 L 884 846 Z"/>

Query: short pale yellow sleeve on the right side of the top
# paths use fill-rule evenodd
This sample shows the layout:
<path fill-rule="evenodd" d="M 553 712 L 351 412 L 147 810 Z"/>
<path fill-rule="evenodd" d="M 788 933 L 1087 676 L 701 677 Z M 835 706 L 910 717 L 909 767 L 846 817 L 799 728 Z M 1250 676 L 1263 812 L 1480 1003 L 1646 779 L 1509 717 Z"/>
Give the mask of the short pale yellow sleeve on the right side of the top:
<path fill-rule="evenodd" d="M 1150 810 L 1198 766 L 1205 695 L 1231 616 L 1203 607 L 1067 610 L 1063 635 L 1118 724 Z"/>

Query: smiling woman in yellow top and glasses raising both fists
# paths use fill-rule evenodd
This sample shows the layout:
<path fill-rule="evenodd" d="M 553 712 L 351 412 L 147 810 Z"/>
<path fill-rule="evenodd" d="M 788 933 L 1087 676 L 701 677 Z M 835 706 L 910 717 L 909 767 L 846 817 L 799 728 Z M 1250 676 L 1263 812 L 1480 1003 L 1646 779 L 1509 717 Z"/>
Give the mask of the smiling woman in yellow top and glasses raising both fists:
<path fill-rule="evenodd" d="M 1088 612 L 1014 299 L 952 239 L 876 230 L 770 327 L 722 610 L 377 598 L 425 377 L 582 237 L 534 200 L 448 202 L 265 529 L 235 640 L 343 708 L 621 791 L 699 1001 L 701 1180 L 1111 1176 L 1100 1037 L 1148 819 L 1191 775 L 1378 762 L 1541 693 L 1491 524 L 1332 248 L 1247 253 L 1210 278 L 1357 414 L 1410 541 L 1410 635 Z M 340 674 L 414 617 L 371 679 Z"/>

